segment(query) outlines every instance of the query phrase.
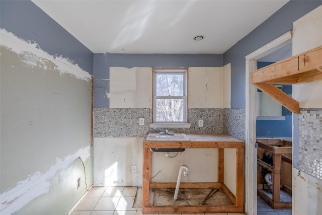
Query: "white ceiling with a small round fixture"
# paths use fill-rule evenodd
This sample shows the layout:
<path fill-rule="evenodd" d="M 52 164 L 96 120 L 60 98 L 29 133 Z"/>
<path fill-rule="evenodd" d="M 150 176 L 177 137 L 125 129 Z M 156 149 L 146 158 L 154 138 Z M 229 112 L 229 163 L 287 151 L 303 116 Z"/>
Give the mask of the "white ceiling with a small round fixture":
<path fill-rule="evenodd" d="M 221 54 L 288 1 L 33 2 L 94 53 Z"/>

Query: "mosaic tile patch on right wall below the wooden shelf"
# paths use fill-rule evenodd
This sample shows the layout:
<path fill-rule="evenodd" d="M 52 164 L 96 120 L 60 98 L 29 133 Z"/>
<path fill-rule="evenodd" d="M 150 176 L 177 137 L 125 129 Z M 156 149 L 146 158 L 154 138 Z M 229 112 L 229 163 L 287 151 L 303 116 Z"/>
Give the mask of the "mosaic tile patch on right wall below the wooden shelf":
<path fill-rule="evenodd" d="M 299 170 L 322 180 L 322 110 L 300 111 Z"/>

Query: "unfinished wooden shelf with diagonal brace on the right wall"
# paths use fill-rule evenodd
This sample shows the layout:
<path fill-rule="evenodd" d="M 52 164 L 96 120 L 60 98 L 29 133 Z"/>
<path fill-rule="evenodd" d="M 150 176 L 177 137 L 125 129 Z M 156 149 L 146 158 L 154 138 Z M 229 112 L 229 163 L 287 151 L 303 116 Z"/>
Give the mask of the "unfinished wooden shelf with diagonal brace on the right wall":
<path fill-rule="evenodd" d="M 299 103 L 274 84 L 301 84 L 322 80 L 322 46 L 273 63 L 251 73 L 251 83 L 284 107 L 299 114 Z"/>

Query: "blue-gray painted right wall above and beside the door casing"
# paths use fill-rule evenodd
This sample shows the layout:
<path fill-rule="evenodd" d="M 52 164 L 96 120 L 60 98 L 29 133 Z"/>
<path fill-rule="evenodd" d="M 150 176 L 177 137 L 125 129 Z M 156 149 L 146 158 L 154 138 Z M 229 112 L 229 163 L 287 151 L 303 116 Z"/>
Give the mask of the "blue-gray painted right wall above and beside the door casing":
<path fill-rule="evenodd" d="M 293 29 L 293 22 L 317 8 L 322 1 L 290 1 L 223 54 L 231 63 L 231 108 L 246 108 L 245 56 Z"/>

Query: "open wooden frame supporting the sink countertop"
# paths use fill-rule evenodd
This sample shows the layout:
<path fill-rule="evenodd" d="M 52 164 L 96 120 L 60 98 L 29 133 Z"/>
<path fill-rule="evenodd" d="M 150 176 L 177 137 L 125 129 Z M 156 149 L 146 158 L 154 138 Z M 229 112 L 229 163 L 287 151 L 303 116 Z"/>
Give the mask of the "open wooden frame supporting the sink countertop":
<path fill-rule="evenodd" d="M 142 213 L 239 213 L 244 212 L 244 141 L 223 133 L 190 133 L 189 141 L 143 140 Z M 152 183 L 152 152 L 157 149 L 218 149 L 218 181 L 210 183 L 181 183 L 180 188 L 221 188 L 232 205 L 149 206 L 150 188 L 175 188 L 176 183 Z M 224 149 L 236 149 L 236 195 L 224 184 Z"/>

